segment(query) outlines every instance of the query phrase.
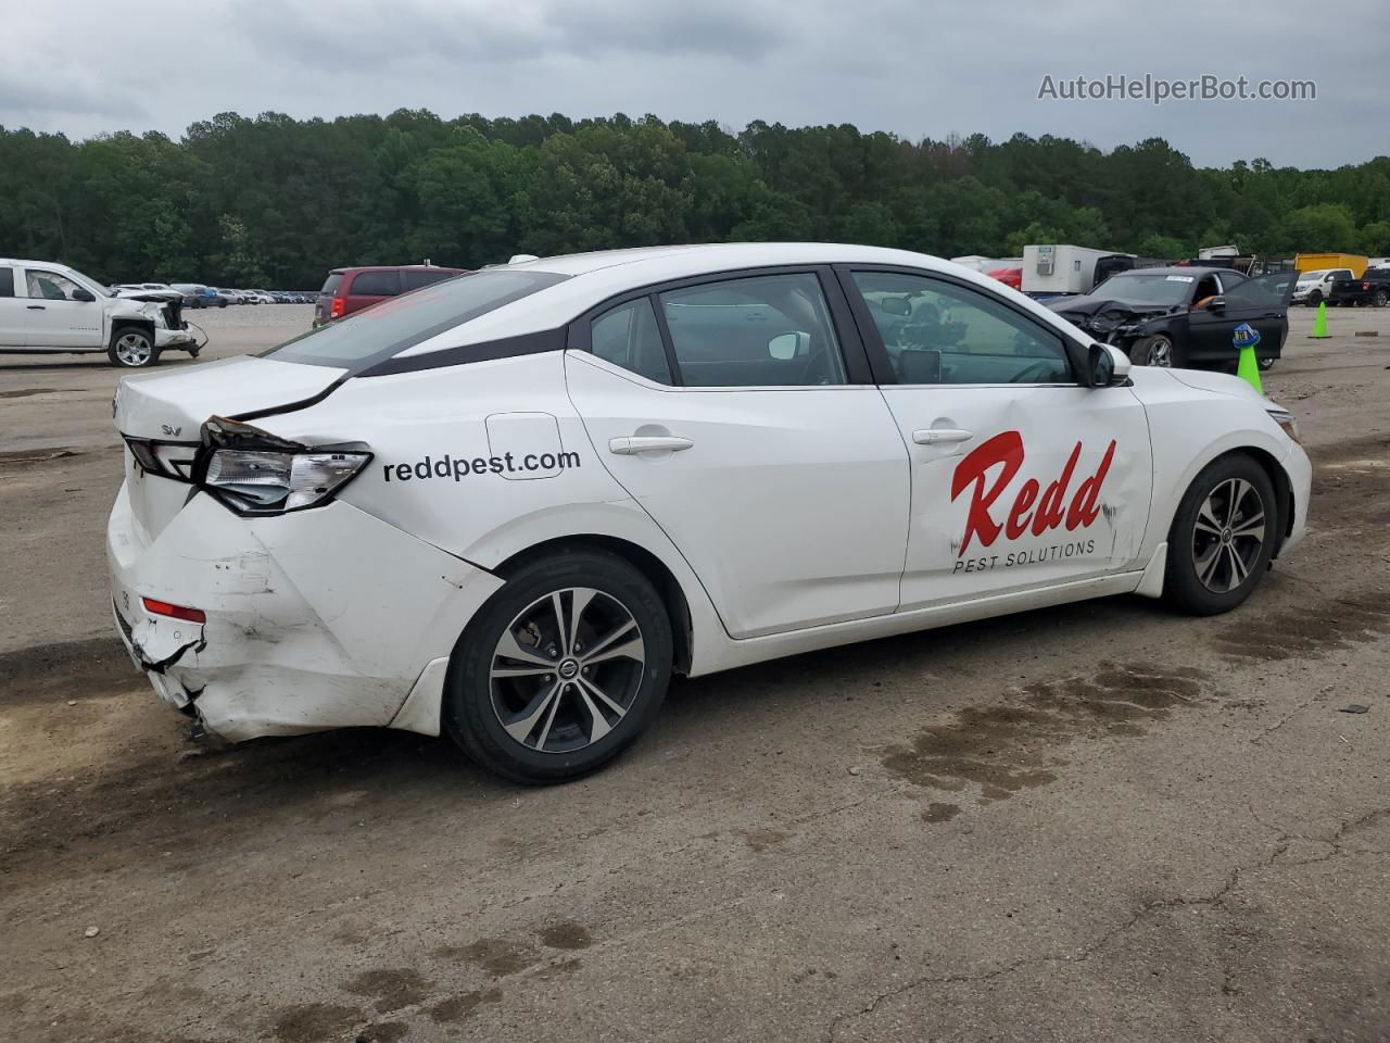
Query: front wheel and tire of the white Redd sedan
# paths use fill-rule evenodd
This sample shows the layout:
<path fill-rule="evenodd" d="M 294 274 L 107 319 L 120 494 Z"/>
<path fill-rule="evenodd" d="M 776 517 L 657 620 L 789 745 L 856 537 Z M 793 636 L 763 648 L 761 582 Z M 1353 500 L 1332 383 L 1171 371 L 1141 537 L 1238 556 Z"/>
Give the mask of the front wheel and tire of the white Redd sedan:
<path fill-rule="evenodd" d="M 1233 498 L 1234 512 L 1229 510 Z M 1257 509 L 1264 520 L 1258 544 L 1251 535 L 1240 535 L 1258 523 Z M 1163 599 L 1194 616 L 1236 608 L 1269 570 L 1279 526 L 1275 487 L 1264 467 L 1245 453 L 1212 460 L 1193 478 L 1177 505 L 1168 533 Z"/>

